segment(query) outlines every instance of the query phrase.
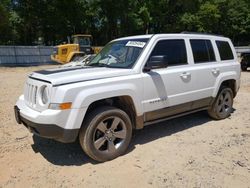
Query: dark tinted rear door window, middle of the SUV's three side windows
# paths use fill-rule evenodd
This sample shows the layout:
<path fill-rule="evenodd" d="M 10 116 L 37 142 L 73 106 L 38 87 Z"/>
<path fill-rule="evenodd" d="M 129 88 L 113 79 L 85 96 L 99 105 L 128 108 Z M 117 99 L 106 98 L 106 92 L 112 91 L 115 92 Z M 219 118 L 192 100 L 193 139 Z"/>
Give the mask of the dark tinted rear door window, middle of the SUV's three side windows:
<path fill-rule="evenodd" d="M 215 61 L 213 46 L 210 40 L 191 39 L 195 63 L 207 63 Z"/>

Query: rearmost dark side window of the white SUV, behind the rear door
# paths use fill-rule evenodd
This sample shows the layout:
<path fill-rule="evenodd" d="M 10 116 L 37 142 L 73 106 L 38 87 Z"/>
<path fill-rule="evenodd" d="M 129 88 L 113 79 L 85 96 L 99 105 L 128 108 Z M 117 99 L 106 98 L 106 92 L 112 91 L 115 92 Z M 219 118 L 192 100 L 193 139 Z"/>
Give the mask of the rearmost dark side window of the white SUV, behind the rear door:
<path fill-rule="evenodd" d="M 232 49 L 228 42 L 226 41 L 216 41 L 216 45 L 218 47 L 220 53 L 220 59 L 223 60 L 230 60 L 234 59 Z"/>

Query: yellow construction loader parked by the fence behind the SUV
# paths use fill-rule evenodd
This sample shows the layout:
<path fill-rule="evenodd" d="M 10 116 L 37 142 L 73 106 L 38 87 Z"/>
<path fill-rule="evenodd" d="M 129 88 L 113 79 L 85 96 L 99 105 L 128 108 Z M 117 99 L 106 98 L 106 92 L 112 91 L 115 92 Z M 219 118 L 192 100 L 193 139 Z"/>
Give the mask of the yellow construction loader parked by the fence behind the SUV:
<path fill-rule="evenodd" d="M 71 41 L 72 43 L 69 42 L 54 47 L 51 59 L 65 64 L 85 55 L 96 54 L 101 50 L 101 47 L 92 46 L 92 35 L 73 35 Z"/>

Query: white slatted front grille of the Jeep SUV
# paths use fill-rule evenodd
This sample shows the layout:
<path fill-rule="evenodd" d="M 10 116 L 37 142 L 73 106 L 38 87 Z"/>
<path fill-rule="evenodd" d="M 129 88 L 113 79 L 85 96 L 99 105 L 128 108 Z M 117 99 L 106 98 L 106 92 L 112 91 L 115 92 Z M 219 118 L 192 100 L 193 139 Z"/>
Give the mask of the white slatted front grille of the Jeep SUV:
<path fill-rule="evenodd" d="M 37 102 L 37 86 L 26 83 L 24 99 L 29 106 L 34 107 Z"/>

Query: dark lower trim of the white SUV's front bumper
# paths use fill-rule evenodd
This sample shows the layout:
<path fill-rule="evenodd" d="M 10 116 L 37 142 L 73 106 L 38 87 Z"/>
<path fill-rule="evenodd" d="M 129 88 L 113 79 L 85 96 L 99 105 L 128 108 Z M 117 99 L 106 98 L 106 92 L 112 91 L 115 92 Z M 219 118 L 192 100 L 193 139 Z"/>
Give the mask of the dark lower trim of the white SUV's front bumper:
<path fill-rule="evenodd" d="M 20 114 L 18 106 L 14 106 L 16 121 L 23 124 L 30 132 L 45 138 L 51 138 L 63 143 L 74 142 L 78 136 L 79 129 L 64 129 L 55 124 L 39 124 L 32 122 Z"/>

